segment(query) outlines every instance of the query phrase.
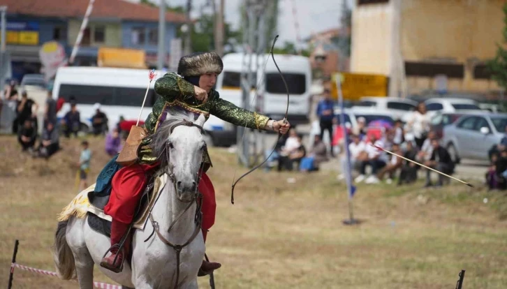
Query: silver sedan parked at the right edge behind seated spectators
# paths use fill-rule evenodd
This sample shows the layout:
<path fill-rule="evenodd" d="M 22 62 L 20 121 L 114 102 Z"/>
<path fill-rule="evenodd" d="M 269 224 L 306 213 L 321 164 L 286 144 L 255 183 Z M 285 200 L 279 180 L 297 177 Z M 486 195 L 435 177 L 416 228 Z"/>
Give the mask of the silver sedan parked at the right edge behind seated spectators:
<path fill-rule="evenodd" d="M 457 163 L 460 158 L 489 159 L 487 152 L 506 136 L 507 114 L 466 114 L 443 128 L 442 144 Z"/>

